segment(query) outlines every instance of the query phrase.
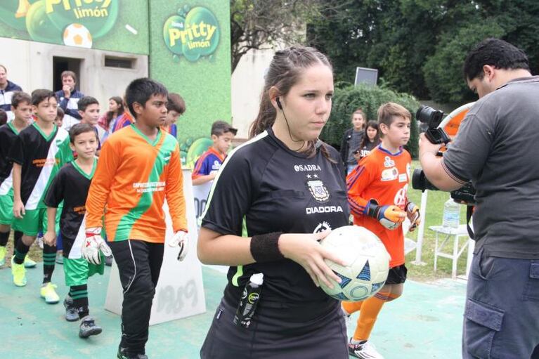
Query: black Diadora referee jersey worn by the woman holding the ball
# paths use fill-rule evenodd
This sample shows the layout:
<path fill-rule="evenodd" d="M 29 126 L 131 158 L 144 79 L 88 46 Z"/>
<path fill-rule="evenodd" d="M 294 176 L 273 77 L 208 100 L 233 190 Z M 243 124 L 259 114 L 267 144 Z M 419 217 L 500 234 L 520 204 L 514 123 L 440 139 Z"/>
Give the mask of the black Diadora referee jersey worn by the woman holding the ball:
<path fill-rule="evenodd" d="M 307 157 L 288 149 L 268 129 L 228 155 L 210 191 L 202 226 L 222 235 L 242 235 L 245 226 L 247 237 L 346 226 L 349 207 L 342 173 L 339 153 L 329 145 L 319 142 L 316 154 Z M 264 273 L 262 305 L 318 303 L 320 312 L 309 315 L 322 315 L 335 306 L 335 299 L 289 259 L 230 267 L 225 289 L 229 303 L 237 303 L 253 273 Z"/>

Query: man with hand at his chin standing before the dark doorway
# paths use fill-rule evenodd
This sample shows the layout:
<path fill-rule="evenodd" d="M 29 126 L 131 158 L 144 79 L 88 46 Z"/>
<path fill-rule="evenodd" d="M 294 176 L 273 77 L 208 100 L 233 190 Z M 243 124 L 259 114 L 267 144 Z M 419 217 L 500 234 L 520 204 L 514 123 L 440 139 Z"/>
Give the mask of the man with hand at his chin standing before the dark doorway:
<path fill-rule="evenodd" d="M 79 103 L 80 98 L 84 97 L 84 93 L 75 89 L 77 75 L 74 72 L 64 71 L 60 76 L 62 77 L 62 89 L 56 91 L 56 98 L 58 99 L 58 107 L 61 107 L 65 112 L 63 129 L 69 131 L 74 124 L 80 122 L 81 116 L 77 103 Z"/>

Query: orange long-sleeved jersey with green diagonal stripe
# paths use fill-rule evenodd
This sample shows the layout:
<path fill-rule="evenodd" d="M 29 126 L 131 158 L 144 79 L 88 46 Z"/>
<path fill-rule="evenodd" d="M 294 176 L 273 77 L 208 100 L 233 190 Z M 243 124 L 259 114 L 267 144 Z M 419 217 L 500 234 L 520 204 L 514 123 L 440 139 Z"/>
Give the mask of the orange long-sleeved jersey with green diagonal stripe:
<path fill-rule="evenodd" d="M 131 124 L 103 144 L 86 200 L 86 228 L 102 227 L 104 214 L 109 241 L 162 243 L 165 197 L 174 232 L 187 231 L 178 141 L 164 131 L 150 141 Z"/>

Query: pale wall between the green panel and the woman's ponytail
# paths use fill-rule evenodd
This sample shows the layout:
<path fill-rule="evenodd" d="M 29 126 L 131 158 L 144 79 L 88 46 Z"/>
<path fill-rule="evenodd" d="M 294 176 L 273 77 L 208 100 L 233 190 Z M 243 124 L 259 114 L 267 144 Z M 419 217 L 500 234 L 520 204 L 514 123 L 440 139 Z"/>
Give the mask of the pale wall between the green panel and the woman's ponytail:
<path fill-rule="evenodd" d="M 238 63 L 232 74 L 232 117 L 238 129 L 236 138 L 247 138 L 249 126 L 258 115 L 264 74 L 274 50 L 251 50 Z"/>

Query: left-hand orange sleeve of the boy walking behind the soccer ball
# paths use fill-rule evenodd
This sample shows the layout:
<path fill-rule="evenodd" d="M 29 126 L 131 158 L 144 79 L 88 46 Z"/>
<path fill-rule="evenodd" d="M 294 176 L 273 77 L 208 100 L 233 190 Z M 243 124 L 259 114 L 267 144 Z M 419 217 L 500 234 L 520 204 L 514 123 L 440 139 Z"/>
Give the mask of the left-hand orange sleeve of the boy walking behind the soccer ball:
<path fill-rule="evenodd" d="M 346 177 L 348 186 L 348 203 L 350 211 L 354 217 L 365 215 L 367 204 L 370 198 L 363 198 L 365 188 L 368 188 L 375 176 L 373 162 L 368 161 L 369 157 L 363 157 L 358 166 Z"/>

